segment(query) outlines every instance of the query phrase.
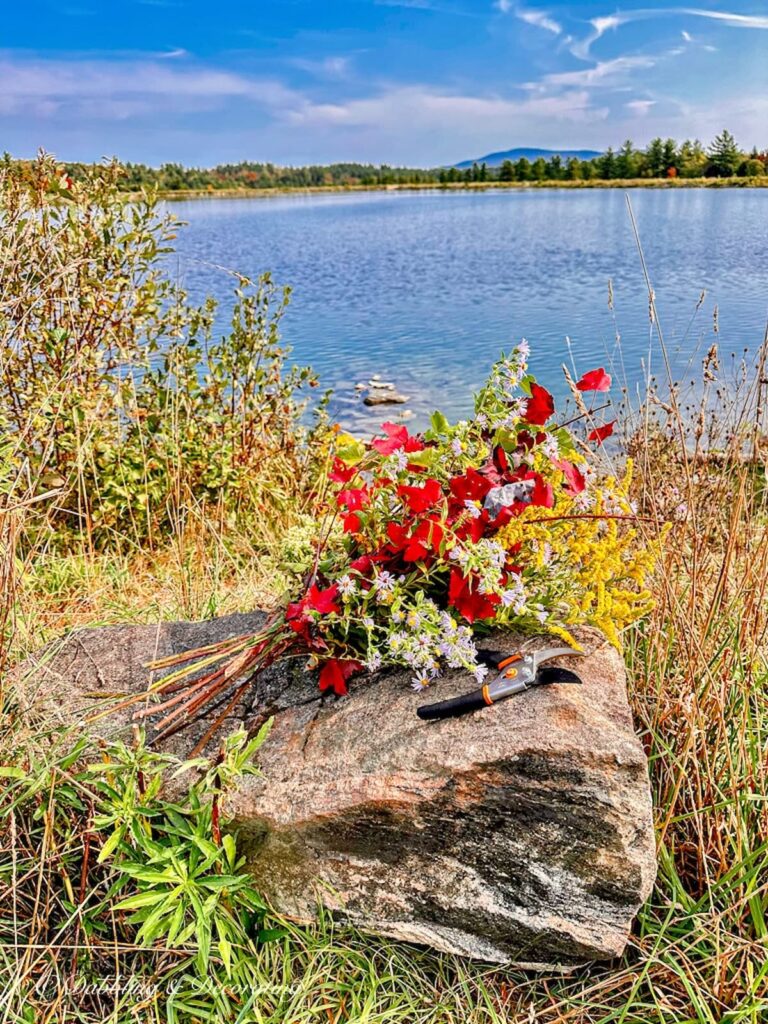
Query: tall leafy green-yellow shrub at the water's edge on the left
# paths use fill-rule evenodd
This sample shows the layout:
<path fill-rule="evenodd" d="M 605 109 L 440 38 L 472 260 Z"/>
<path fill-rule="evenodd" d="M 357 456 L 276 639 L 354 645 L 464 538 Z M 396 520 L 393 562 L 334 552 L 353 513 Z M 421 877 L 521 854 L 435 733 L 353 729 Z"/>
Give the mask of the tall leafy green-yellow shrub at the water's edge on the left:
<path fill-rule="evenodd" d="M 215 339 L 215 303 L 168 273 L 179 223 L 121 178 L 73 181 L 50 157 L 0 171 L 0 417 L 50 493 L 38 534 L 152 546 L 201 508 L 268 531 L 289 496 L 311 500 L 327 439 L 323 403 L 304 426 L 317 382 L 281 343 L 289 292 L 239 279 Z"/>

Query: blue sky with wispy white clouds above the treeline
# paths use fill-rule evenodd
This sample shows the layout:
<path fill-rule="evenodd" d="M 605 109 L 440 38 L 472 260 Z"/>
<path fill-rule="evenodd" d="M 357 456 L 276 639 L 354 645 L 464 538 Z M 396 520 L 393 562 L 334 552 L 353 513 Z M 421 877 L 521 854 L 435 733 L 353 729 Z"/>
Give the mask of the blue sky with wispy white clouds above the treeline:
<path fill-rule="evenodd" d="M 36 0 L 0 33 L 0 148 L 433 166 L 723 126 L 768 146 L 768 3 Z"/>

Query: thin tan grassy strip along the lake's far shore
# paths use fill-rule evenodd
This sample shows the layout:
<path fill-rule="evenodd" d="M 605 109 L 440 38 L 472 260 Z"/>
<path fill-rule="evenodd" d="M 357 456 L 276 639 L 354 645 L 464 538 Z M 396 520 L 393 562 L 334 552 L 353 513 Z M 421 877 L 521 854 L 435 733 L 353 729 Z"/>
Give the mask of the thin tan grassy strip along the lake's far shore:
<path fill-rule="evenodd" d="M 376 185 L 306 185 L 304 187 L 274 188 L 185 188 L 160 190 L 158 198 L 163 201 L 188 199 L 268 199 L 271 196 L 322 196 L 343 195 L 345 193 L 388 193 L 388 191 L 488 191 L 519 190 L 540 188 L 768 188 L 768 174 L 755 178 L 611 178 L 588 181 L 423 181 L 397 182 Z M 140 191 L 126 193 L 129 198 L 137 198 Z"/>

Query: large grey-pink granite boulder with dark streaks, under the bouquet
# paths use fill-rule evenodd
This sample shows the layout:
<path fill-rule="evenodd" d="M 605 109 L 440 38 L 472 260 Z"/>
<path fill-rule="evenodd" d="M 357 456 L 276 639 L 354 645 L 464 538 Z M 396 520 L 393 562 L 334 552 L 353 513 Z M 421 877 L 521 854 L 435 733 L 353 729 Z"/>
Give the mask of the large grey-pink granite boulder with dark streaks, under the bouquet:
<path fill-rule="evenodd" d="M 23 692 L 84 721 L 95 700 L 144 688 L 147 660 L 261 621 L 81 631 L 25 667 Z M 345 698 L 321 697 L 300 662 L 265 673 L 224 726 L 274 719 L 262 774 L 227 808 L 261 891 L 298 920 L 323 903 L 366 930 L 490 962 L 618 955 L 655 874 L 647 765 L 620 655 L 598 634 L 580 638 L 583 686 L 433 723 L 416 717 L 424 698 L 402 673 L 353 682 Z M 471 685 L 449 674 L 433 699 Z M 130 722 L 117 713 L 89 728 Z M 170 748 L 186 753 L 203 728 Z"/>

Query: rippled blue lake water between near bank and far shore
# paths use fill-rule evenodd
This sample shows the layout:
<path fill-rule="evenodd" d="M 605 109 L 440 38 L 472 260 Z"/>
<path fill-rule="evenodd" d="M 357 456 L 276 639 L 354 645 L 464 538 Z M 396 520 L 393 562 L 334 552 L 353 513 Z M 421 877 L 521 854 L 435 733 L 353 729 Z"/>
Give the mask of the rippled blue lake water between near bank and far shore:
<path fill-rule="evenodd" d="M 717 340 L 754 350 L 768 316 L 768 189 L 365 193 L 174 203 L 187 222 L 178 274 L 230 305 L 232 279 L 291 285 L 294 359 L 365 429 L 407 408 L 423 425 L 462 416 L 501 350 L 526 338 L 531 369 L 562 394 L 560 367 L 603 365 L 631 390 L 663 370 L 629 195 L 676 375 L 697 376 Z M 609 307 L 609 282 L 612 306 Z M 700 301 L 701 293 L 706 293 Z M 569 346 L 566 342 L 569 339 Z M 407 407 L 366 410 L 373 374 Z"/>

